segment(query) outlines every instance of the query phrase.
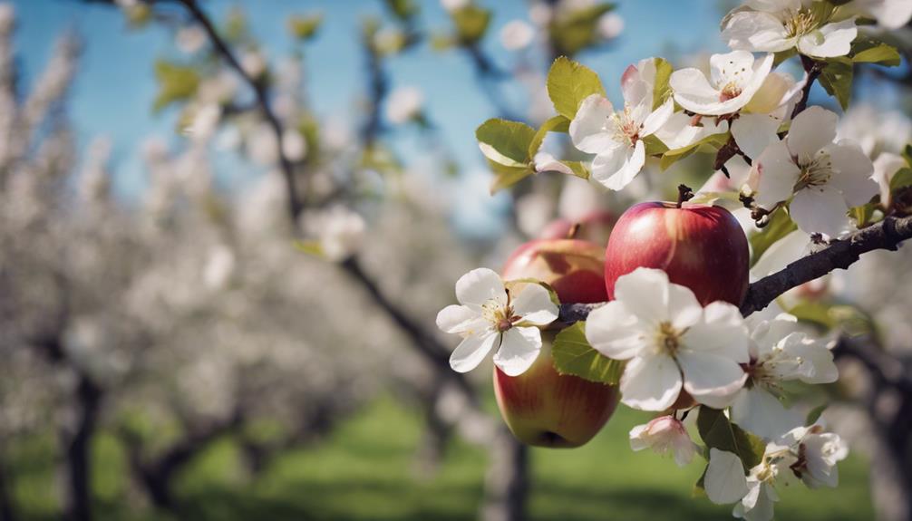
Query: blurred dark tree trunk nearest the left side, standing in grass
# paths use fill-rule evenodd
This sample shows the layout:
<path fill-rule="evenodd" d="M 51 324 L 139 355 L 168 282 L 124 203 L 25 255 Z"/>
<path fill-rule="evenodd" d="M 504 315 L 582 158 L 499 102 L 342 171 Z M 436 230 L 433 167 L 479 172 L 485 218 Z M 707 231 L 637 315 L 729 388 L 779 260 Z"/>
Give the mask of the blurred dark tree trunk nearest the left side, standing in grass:
<path fill-rule="evenodd" d="M 87 376 L 79 379 L 77 390 L 78 424 L 71 435 L 65 434 L 67 447 L 67 490 L 64 502 L 64 517 L 67 521 L 91 521 L 91 450 L 98 410 L 101 404 L 101 389 Z"/>

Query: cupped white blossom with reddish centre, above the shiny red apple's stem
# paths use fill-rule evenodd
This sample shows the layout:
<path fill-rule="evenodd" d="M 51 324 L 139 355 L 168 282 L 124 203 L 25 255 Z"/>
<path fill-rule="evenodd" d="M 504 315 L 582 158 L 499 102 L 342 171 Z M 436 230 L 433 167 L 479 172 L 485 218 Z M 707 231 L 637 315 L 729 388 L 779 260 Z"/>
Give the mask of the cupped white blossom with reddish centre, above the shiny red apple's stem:
<path fill-rule="evenodd" d="M 772 70 L 773 56 L 754 59 L 747 51 L 710 56 L 710 78 L 698 68 L 671 74 L 670 85 L 681 107 L 704 116 L 741 110 L 761 89 Z"/>

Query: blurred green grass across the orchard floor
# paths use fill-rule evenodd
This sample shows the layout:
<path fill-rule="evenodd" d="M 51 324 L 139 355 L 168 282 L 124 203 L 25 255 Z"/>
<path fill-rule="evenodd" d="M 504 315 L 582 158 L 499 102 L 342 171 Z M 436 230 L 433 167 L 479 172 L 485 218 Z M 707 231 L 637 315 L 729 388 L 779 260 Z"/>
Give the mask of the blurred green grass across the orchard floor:
<path fill-rule="evenodd" d="M 532 519 L 731 518 L 728 507 L 690 496 L 699 464 L 679 469 L 651 453 L 632 453 L 627 431 L 643 416 L 622 408 L 585 447 L 533 451 Z M 324 443 L 282 455 L 255 481 L 245 476 L 230 440 L 214 444 L 181 476 L 181 518 L 200 521 L 292 519 L 472 519 L 482 497 L 485 455 L 456 441 L 440 473 L 416 477 L 420 418 L 390 399 L 343 424 Z M 49 442 L 16 451 L 16 498 L 26 519 L 53 519 Z M 95 489 L 102 519 L 161 520 L 137 508 L 112 439 L 96 448 Z M 786 490 L 777 519 L 870 519 L 865 462 L 851 456 L 839 488 Z M 131 500 L 130 498 L 133 498 Z"/>

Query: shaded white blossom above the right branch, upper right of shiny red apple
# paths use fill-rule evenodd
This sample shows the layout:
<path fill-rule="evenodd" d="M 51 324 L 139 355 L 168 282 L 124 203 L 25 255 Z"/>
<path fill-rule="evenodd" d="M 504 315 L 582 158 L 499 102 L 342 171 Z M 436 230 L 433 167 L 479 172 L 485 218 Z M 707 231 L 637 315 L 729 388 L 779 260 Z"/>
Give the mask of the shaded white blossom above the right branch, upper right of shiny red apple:
<path fill-rule="evenodd" d="M 789 213 L 807 233 L 838 236 L 849 225 L 849 208 L 877 193 L 874 166 L 855 142 L 836 136 L 836 115 L 822 107 L 804 110 L 788 137 L 757 158 L 756 203 L 765 209 L 794 198 Z"/>

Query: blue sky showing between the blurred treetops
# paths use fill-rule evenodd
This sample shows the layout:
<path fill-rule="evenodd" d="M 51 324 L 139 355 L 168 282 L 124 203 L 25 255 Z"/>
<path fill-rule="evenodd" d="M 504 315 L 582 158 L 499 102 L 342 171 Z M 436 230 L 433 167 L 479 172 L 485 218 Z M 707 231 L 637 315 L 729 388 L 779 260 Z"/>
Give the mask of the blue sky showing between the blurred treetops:
<path fill-rule="evenodd" d="M 84 37 L 86 48 L 70 105 L 82 145 L 105 135 L 114 144 L 114 166 L 120 191 L 134 191 L 142 177 L 138 148 L 150 134 L 173 138 L 173 112 L 153 115 L 155 96 L 152 63 L 173 56 L 176 50 L 168 31 L 158 26 L 130 30 L 119 10 L 87 5 L 76 0 L 13 0 L 18 16 L 16 50 L 26 86 L 40 74 L 57 36 L 68 28 Z M 322 116 L 353 116 L 354 102 L 364 86 L 363 59 L 357 30 L 361 18 L 382 11 L 379 0 L 301 1 L 210 0 L 203 3 L 215 17 L 241 5 L 250 26 L 272 53 L 292 48 L 285 33 L 285 17 L 292 13 L 320 11 L 324 26 L 307 47 L 306 81 L 309 96 Z M 435 0 L 420 1 L 424 26 L 445 28 L 448 21 Z M 493 31 L 486 45 L 496 60 L 507 63 L 508 54 L 496 38 L 497 31 L 513 18 L 526 17 L 523 0 L 487 2 L 494 6 Z M 717 0 L 627 0 L 619 13 L 626 21 L 625 35 L 610 52 L 581 56 L 598 71 L 617 95 L 623 69 L 639 58 L 700 49 L 720 49 Z M 174 8 L 171 8 L 174 9 Z M 389 64 L 393 84 L 420 87 L 427 98 L 430 117 L 443 132 L 461 164 L 482 166 L 473 139 L 474 128 L 493 115 L 493 108 L 472 79 L 472 67 L 458 53 L 439 53 L 430 46 L 409 52 Z"/>

